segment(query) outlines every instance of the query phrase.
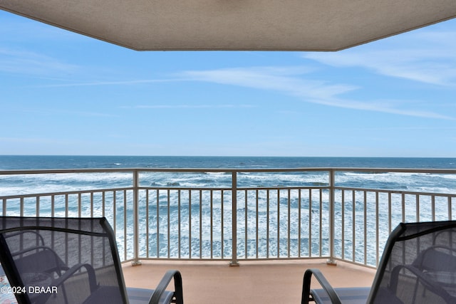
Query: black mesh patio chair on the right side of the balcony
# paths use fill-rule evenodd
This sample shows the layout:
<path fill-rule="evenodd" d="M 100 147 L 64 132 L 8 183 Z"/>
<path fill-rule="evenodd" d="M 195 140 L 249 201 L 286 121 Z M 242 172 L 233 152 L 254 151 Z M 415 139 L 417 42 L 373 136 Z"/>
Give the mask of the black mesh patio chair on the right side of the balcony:
<path fill-rule="evenodd" d="M 322 288 L 311 289 L 311 278 Z M 371 288 L 332 288 L 321 271 L 304 273 L 301 303 L 456 303 L 456 221 L 399 224 Z"/>

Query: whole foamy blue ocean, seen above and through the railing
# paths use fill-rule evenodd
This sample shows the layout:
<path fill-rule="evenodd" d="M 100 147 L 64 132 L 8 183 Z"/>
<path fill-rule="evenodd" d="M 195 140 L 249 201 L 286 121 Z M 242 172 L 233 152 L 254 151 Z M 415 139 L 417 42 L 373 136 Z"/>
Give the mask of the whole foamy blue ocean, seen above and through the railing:
<path fill-rule="evenodd" d="M 14 169 L 88 169 L 88 168 L 214 168 L 214 169 L 271 169 L 271 168 L 318 168 L 318 167 L 353 167 L 353 168 L 413 168 L 413 169 L 456 169 L 456 158 L 379 158 L 379 157 L 138 157 L 138 156 L 0 156 L 0 170 L 14 170 Z M 328 176 L 322 172 L 241 172 L 237 177 L 238 187 L 276 187 L 276 186 L 326 186 L 328 185 Z M 0 174 L 0 198 L 1 196 L 14 196 L 16 194 L 41 194 L 41 193 L 53 193 L 53 192 L 70 192 L 85 189 L 110 189 L 118 187 L 131 187 L 132 177 L 131 173 L 128 172 L 110 172 L 110 173 L 87 173 L 87 174 L 18 174 L 18 175 L 1 175 Z M 172 173 L 172 172 L 144 172 L 140 173 L 140 186 L 145 187 L 171 187 L 171 188 L 193 188 L 193 187 L 230 187 L 231 176 L 223 172 L 198 172 L 198 173 Z M 417 174 L 410 172 L 393 173 L 393 172 L 338 172 L 336 173 L 336 186 L 340 187 L 359 187 L 368 189 L 393 189 L 397 191 L 406 192 L 432 192 L 442 194 L 454 194 L 456 192 L 456 174 Z M 176 256 L 187 256 L 191 257 L 193 254 L 199 254 L 200 256 L 210 255 L 210 251 L 216 252 L 219 256 L 229 256 L 230 244 L 229 244 L 229 233 L 227 231 L 217 231 L 217 227 L 222 227 L 229 224 L 231 218 L 230 214 L 227 213 L 222 216 L 224 212 L 223 208 L 229 209 L 229 197 L 227 197 L 227 205 L 222 207 L 220 204 L 221 198 L 214 198 L 214 214 L 212 219 L 209 218 L 209 212 L 202 207 L 199 211 L 199 195 L 201 195 L 201 201 L 204 206 L 209 201 L 209 192 L 202 192 L 201 194 L 192 194 L 190 199 L 189 192 L 182 192 L 182 202 L 189 201 L 189 203 L 182 209 L 177 206 L 177 192 L 171 192 L 170 208 L 167 209 L 167 194 L 160 192 L 158 197 L 154 196 L 157 194 L 151 194 L 150 201 L 160 201 L 160 208 L 153 206 L 141 205 L 140 206 L 140 230 L 144 231 L 146 219 L 144 217 L 147 208 L 150 209 L 150 229 L 151 231 L 160 231 L 159 233 L 151 233 L 149 240 L 141 239 L 140 251 L 143 253 L 147 249 L 150 252 L 157 252 L 157 256 L 165 257 L 167 255 L 171 257 Z M 243 202 L 243 194 L 238 201 Z M 247 239 L 244 243 L 239 242 L 238 252 L 240 256 L 274 256 L 274 253 L 279 251 L 279 256 L 286 256 L 291 251 L 291 255 L 298 255 L 297 239 L 298 231 L 292 230 L 290 233 L 291 243 L 290 248 L 284 246 L 287 243 L 286 235 L 282 235 L 280 231 L 286 231 L 287 221 L 286 218 L 286 204 L 290 204 L 291 214 L 290 226 L 298 226 L 295 223 L 298 214 L 298 206 L 301 204 L 301 208 L 309 209 L 312 207 L 312 212 L 318 213 L 320 206 L 312 206 L 313 202 L 309 197 L 299 196 L 298 192 L 290 192 L 290 194 L 283 193 L 281 197 L 276 197 L 276 193 L 270 193 L 271 202 L 267 201 L 265 194 L 259 197 L 259 206 L 255 204 L 255 198 L 252 196 L 254 192 L 247 194 L 247 201 L 249 203 L 245 206 L 239 206 L 237 217 L 238 219 L 247 218 L 247 222 L 242 220 L 238 224 L 238 234 L 240 239 L 247 235 Z M 289 195 L 289 198 L 286 196 Z M 327 192 L 321 194 L 316 192 L 313 195 L 313 199 L 318 200 L 318 195 L 323 196 L 323 201 L 328 200 Z M 131 194 L 128 194 L 131 196 Z M 252 196 L 252 197 L 251 197 Z M 283 197 L 282 197 L 283 196 Z M 336 194 L 336 201 L 341 201 L 341 194 Z M 131 198 L 129 198 L 131 199 Z M 285 201 L 284 201 L 285 199 Z M 363 208 L 362 197 L 360 201 L 356 201 L 356 206 Z M 413 199 L 413 197 L 412 197 Z M 95 199 L 96 201 L 97 199 Z M 100 200 L 100 199 L 98 199 Z M 109 200 L 109 198 L 108 198 Z M 145 201 L 143 196 L 140 197 L 140 204 Z M 276 203 L 274 203 L 274 201 Z M 443 202 L 444 204 L 445 201 Z M 185 205 L 184 203 L 182 203 Z M 242 203 L 243 204 L 243 203 Z M 269 204 L 269 206 L 268 206 Z M 413 204 L 413 202 L 412 202 Z M 62 206 L 60 206 L 62 205 Z M 97 204 L 95 204 L 95 216 L 100 214 L 97 210 Z M 46 201 L 41 201 L 41 207 L 43 213 L 46 213 Z M 63 202 L 56 201 L 56 213 L 63 214 Z M 192 209 L 190 209 L 192 207 Z M 76 207 L 75 207 L 76 208 Z M 269 208 L 269 211 L 268 209 Z M 375 236 L 375 223 L 371 223 L 371 216 L 375 210 L 372 206 L 368 206 L 368 227 L 369 234 Z M 157 210 L 160 209 L 160 214 Z M 284 214 L 282 211 L 276 212 L 276 210 L 285 210 Z M 76 210 L 76 209 L 75 209 Z M 163 211 L 162 211 L 163 210 Z M 361 209 L 360 209 L 361 210 Z M 381 210 L 381 209 L 380 209 Z M 8 207 L 7 211 L 11 214 L 17 214 L 17 210 L 14 206 Z M 36 206 L 26 206 L 26 214 L 36 211 Z M 422 207 L 421 211 L 426 213 L 425 206 Z M 75 211 L 76 212 L 76 211 Z M 119 209 L 119 214 L 121 214 Z M 127 213 L 132 212 L 131 209 L 127 210 Z M 169 212 L 169 214 L 168 214 Z M 177 214 L 180 212 L 180 217 Z M 199 212 L 201 214 L 199 214 Z M 304 212 L 304 211 L 303 211 Z M 323 210 L 323 223 L 328 222 L 328 216 L 326 211 Z M 440 211 L 437 211 L 437 213 Z M 441 210 L 442 214 L 447 212 L 447 209 Z M 258 213 L 258 214 L 257 214 Z M 360 212 L 362 213 L 362 211 Z M 336 216 L 340 216 L 341 210 L 336 209 Z M 363 248 L 366 244 L 356 243 L 361 239 L 363 231 L 363 218 L 350 219 L 351 212 L 348 210 L 346 213 L 346 221 L 359 221 L 360 231 L 356 231 L 356 235 L 360 235 L 356 240 L 353 240 L 351 246 L 358 246 Z M 415 211 L 410 211 L 410 214 L 415 214 Z M 427 212 L 429 214 L 429 212 Z M 167 216 L 170 217 L 170 223 L 167 221 L 161 221 Z M 309 216 L 314 216 L 309 215 Z M 257 217 L 258 222 L 257 222 Z M 380 214 L 380 219 L 385 218 L 385 214 Z M 190 227 L 189 223 L 182 221 L 182 219 L 191 219 L 193 226 Z M 182 222 L 181 222 L 182 221 Z M 202 222 L 201 230 L 199 230 L 199 222 Z M 212 221 L 210 227 L 207 223 Z M 120 253 L 123 253 L 125 248 L 131 248 L 129 245 L 131 241 L 131 231 L 133 223 L 127 221 L 126 233 L 123 230 L 123 219 L 118 219 L 120 226 L 115 227 L 118 241 L 120 243 Z M 280 222 L 281 228 L 274 228 L 277 223 Z M 316 221 L 315 221 L 316 222 Z M 172 230 L 172 227 L 181 225 L 182 246 L 177 248 L 174 244 L 177 243 L 177 236 L 170 234 L 170 239 L 167 239 L 167 230 Z M 308 227 L 309 219 L 303 217 L 301 219 L 301 225 Z M 257 230 L 264 232 L 268 229 L 270 236 L 270 243 L 261 243 L 264 239 L 260 236 L 261 240 L 257 240 Z M 336 227 L 338 231 L 339 227 Z M 196 229 L 196 230 L 195 230 Z M 218 241 L 209 242 L 208 235 L 214 234 L 214 239 Z M 275 230 L 274 230 L 275 229 Z M 304 228 L 303 228 L 304 229 Z M 358 229 L 358 228 L 356 228 Z M 245 232 L 247 230 L 247 233 Z M 303 231 L 304 232 L 304 231 Z M 280 237 L 274 240 L 274 236 L 281 234 Z M 285 232 L 284 232 L 285 233 Z M 197 236 L 201 234 L 202 239 L 198 239 Z M 304 234 L 304 233 L 303 233 Z M 318 239 L 318 234 L 323 235 L 323 243 L 312 243 L 311 251 L 325 251 L 328 248 L 327 243 L 327 231 L 317 231 L 313 239 Z M 388 236 L 388 232 L 383 229 L 382 231 L 383 242 Z M 348 233 L 351 235 L 351 233 Z M 129 240 L 125 240 L 130 239 Z M 196 237 L 192 240 L 192 237 Z M 337 237 L 337 236 L 336 236 Z M 341 236 L 338 236 L 341 239 Z M 371 236 L 369 236 L 370 238 Z M 283 239 L 281 239 L 283 238 Z M 257 243 L 258 242 L 258 243 Z M 274 242 L 275 245 L 274 245 Z M 307 245 L 306 245 L 307 242 Z M 159 245 L 155 245 L 159 243 Z M 279 244 L 280 243 L 280 244 Z M 350 243 L 347 237 L 346 244 Z M 152 244 L 152 245 L 150 245 Z M 309 239 L 301 239 L 303 250 L 309 247 Z M 212 248 L 211 248 L 212 246 Z M 288 246 L 288 245 L 287 245 Z M 341 251 L 346 250 L 346 256 L 350 256 L 351 248 L 342 248 L 341 243 L 336 243 L 336 251 L 341 254 Z M 200 250 L 202 248 L 202 250 Z M 223 249 L 222 249 L 223 248 Z M 128 252 L 127 252 L 128 251 Z M 130 258 L 130 251 L 125 251 L 124 258 Z M 170 251 L 170 252 L 168 252 Z M 199 252 L 200 251 L 200 252 Z M 223 251 L 223 252 L 221 252 Z M 258 253 L 258 251 L 261 251 Z M 270 251 L 270 252 L 268 252 Z M 217 253 L 218 252 L 218 253 Z M 309 252 L 301 252 L 301 255 L 310 255 Z M 358 254 L 358 253 L 357 253 Z M 362 249 L 361 256 L 363 255 Z M 371 261 L 369 263 L 375 263 L 375 256 L 368 257 Z"/>

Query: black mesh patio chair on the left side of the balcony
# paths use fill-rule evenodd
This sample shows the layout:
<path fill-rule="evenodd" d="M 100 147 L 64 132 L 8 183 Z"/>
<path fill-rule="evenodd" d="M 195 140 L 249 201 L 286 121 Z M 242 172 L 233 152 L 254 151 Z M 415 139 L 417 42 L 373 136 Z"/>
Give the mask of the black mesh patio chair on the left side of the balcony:
<path fill-rule="evenodd" d="M 105 218 L 0 216 L 0 263 L 18 303 L 183 304 L 179 271 L 155 290 L 125 287 Z"/>

